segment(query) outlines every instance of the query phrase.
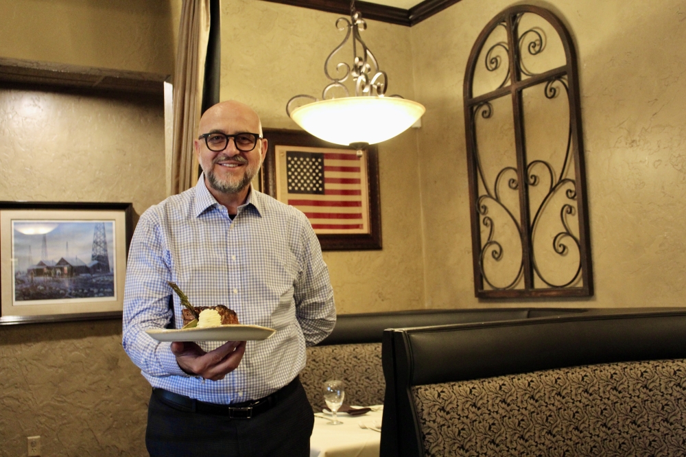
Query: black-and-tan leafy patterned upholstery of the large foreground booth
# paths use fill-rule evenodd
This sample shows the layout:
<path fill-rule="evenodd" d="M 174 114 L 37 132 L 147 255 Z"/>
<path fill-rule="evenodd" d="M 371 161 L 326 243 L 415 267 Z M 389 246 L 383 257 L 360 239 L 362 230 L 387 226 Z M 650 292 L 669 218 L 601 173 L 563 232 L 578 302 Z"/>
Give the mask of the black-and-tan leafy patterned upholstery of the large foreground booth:
<path fill-rule="evenodd" d="M 427 456 L 684 456 L 686 361 L 414 386 Z"/>

